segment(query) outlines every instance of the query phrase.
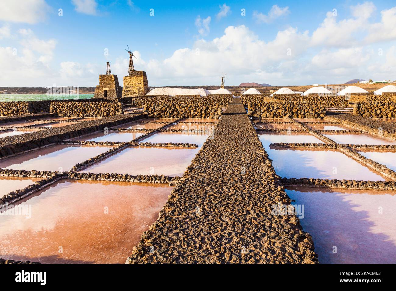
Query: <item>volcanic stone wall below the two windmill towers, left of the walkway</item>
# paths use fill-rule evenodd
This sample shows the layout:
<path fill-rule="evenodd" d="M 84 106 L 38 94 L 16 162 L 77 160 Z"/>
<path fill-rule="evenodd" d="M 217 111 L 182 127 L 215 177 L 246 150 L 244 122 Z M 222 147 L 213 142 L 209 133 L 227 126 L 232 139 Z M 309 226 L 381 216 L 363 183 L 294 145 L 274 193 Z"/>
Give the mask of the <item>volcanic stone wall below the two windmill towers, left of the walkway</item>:
<path fill-rule="evenodd" d="M 123 113 L 120 102 L 51 102 L 49 112 L 65 117 L 108 117 Z"/>

